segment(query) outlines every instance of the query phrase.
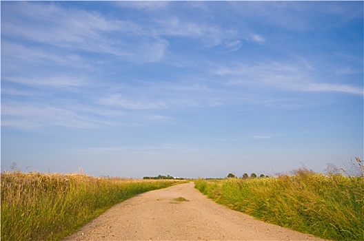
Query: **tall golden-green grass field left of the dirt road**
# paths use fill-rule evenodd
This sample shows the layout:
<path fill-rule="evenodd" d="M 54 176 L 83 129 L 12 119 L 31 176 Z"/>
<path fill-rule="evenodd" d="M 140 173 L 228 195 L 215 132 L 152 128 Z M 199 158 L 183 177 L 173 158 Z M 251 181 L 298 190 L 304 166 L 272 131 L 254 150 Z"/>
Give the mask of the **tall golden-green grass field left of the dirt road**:
<path fill-rule="evenodd" d="M 183 181 L 1 174 L 1 240 L 61 240 L 112 205 Z"/>

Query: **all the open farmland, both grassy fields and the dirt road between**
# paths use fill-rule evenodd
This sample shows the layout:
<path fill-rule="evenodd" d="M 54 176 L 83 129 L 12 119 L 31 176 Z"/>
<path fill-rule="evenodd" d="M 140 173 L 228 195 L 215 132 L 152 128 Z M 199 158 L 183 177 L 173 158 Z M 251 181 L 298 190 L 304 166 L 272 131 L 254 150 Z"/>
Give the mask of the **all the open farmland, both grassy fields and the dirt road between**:
<path fill-rule="evenodd" d="M 1 240 L 363 240 L 357 160 L 356 176 L 298 169 L 194 183 L 4 172 Z"/>

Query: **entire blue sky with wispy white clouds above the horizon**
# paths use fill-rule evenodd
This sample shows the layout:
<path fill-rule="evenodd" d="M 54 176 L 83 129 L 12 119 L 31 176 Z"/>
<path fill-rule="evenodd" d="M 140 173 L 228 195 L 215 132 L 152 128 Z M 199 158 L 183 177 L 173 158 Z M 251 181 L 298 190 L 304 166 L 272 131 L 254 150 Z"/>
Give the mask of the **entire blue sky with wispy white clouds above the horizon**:
<path fill-rule="evenodd" d="M 141 178 L 363 158 L 363 1 L 1 1 L 1 169 Z"/>

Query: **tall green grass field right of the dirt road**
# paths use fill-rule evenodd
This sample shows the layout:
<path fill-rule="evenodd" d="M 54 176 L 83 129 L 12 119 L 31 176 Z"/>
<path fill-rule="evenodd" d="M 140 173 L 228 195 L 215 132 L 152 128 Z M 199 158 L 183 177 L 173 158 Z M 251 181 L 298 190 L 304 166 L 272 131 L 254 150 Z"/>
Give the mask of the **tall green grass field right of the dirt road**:
<path fill-rule="evenodd" d="M 330 240 L 364 240 L 364 177 L 294 176 L 203 180 L 196 189 L 266 222 Z"/>

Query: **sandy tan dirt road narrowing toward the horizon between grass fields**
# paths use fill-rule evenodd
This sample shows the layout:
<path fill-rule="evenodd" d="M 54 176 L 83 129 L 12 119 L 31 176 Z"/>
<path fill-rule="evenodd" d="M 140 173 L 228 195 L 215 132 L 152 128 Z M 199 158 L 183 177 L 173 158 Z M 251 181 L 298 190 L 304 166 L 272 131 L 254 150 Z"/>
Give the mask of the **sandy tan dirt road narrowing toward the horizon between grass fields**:
<path fill-rule="evenodd" d="M 320 239 L 218 205 L 189 182 L 125 200 L 65 240 Z"/>

